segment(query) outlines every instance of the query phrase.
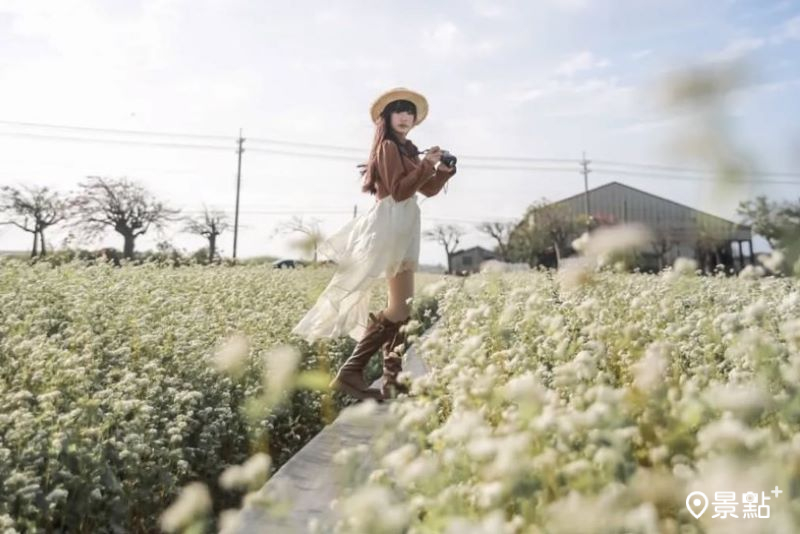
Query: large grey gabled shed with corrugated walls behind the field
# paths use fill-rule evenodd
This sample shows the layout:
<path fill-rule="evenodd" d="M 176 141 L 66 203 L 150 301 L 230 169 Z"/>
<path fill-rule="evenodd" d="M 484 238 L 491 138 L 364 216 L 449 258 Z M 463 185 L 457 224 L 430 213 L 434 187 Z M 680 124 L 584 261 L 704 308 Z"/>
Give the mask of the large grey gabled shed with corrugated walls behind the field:
<path fill-rule="evenodd" d="M 671 265 L 678 256 L 696 259 L 705 271 L 713 271 L 718 264 L 741 270 L 746 263 L 755 263 L 749 226 L 619 182 L 553 204 L 566 206 L 570 213 L 580 215 L 586 213 L 587 200 L 589 214 L 601 224 L 639 222 L 653 231 L 656 242 L 649 250 L 642 251 L 645 269 Z M 532 216 L 535 218 L 535 211 Z"/>

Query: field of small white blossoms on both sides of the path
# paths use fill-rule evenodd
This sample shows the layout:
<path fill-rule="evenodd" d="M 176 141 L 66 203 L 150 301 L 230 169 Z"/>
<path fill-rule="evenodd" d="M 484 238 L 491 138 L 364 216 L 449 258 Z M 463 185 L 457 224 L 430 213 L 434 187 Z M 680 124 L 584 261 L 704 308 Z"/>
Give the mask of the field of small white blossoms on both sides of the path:
<path fill-rule="evenodd" d="M 243 492 L 375 409 L 324 391 L 352 340 L 289 334 L 331 274 L 0 264 L 0 531 L 234 531 Z M 317 528 L 800 531 L 800 281 L 762 274 L 419 274 L 431 372 Z"/>

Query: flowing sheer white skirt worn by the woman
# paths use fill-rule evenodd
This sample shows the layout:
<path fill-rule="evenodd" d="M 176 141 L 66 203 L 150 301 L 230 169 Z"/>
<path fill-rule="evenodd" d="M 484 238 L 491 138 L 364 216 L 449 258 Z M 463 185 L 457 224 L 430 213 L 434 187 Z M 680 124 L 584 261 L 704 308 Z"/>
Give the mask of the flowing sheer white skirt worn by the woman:
<path fill-rule="evenodd" d="M 419 246 L 417 195 L 400 202 L 391 196 L 378 200 L 320 245 L 319 255 L 335 261 L 336 272 L 292 333 L 309 343 L 342 335 L 361 339 L 374 284 L 416 270 Z"/>

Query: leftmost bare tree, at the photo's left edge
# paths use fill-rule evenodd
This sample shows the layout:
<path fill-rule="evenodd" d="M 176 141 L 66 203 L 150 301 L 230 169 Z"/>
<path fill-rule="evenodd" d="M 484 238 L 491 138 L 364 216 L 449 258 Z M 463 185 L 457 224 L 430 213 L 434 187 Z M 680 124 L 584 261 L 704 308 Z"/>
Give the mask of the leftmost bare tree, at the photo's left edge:
<path fill-rule="evenodd" d="M 9 220 L 0 221 L 0 225 L 11 224 L 32 233 L 31 257 L 44 256 L 47 253 L 44 231 L 68 218 L 68 202 L 59 199 L 47 187 L 22 186 L 22 189 L 24 191 L 11 186 L 0 188 L 0 214 L 9 217 Z"/>

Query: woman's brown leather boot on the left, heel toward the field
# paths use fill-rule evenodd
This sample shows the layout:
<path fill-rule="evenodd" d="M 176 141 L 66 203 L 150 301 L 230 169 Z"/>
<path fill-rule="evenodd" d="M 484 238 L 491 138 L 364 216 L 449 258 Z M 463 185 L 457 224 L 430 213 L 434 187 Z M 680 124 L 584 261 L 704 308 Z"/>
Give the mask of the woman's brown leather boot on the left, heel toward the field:
<path fill-rule="evenodd" d="M 353 349 L 353 353 L 339 368 L 336 377 L 331 381 L 330 388 L 342 391 L 357 399 L 383 400 L 383 395 L 376 388 L 371 388 L 364 381 L 364 368 L 369 363 L 375 352 L 393 332 L 394 323 L 383 315 L 383 311 L 376 314 L 370 312 L 370 321 L 363 337 Z"/>

